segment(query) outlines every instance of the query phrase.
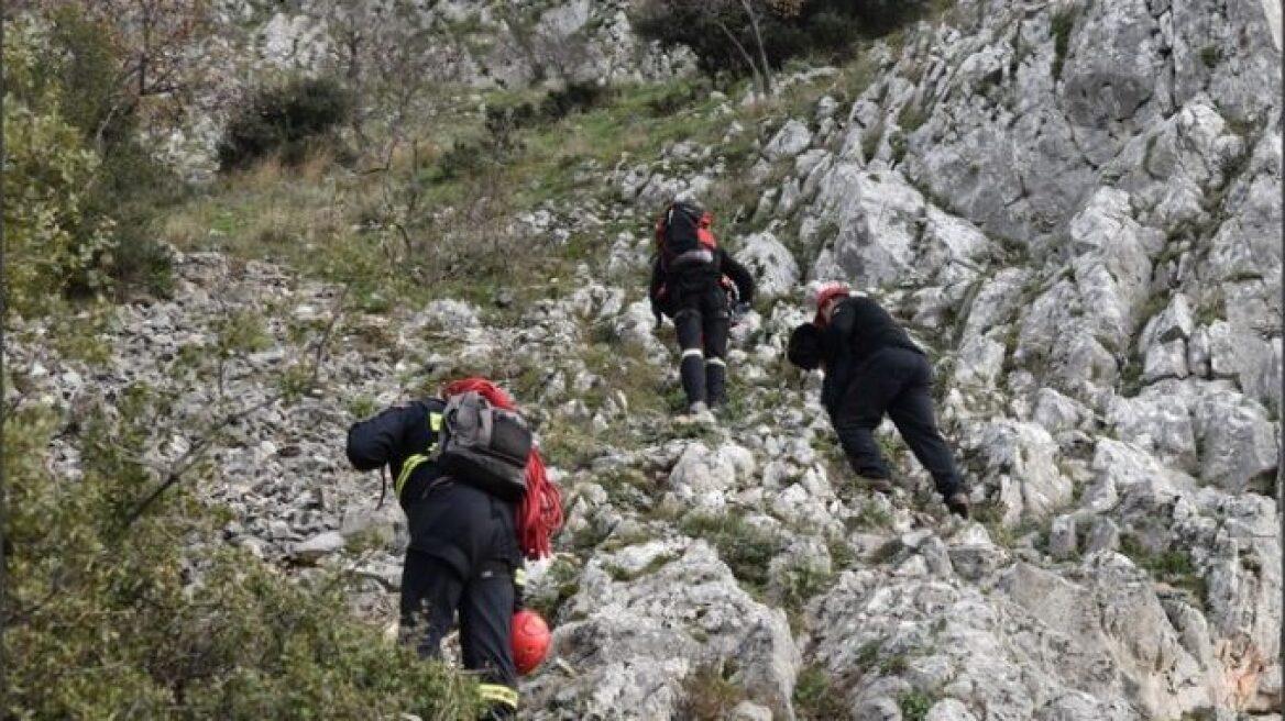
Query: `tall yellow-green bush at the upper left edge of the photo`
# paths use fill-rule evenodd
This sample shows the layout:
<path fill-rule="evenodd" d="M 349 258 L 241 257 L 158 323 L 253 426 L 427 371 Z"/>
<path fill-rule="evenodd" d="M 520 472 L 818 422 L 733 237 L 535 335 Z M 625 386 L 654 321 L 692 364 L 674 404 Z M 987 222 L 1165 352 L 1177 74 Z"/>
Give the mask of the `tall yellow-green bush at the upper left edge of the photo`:
<path fill-rule="evenodd" d="M 14 18 L 4 37 L 6 280 L 19 313 L 64 294 L 163 293 L 152 237 L 176 183 L 137 140 L 137 98 L 113 35 L 71 5 Z"/>

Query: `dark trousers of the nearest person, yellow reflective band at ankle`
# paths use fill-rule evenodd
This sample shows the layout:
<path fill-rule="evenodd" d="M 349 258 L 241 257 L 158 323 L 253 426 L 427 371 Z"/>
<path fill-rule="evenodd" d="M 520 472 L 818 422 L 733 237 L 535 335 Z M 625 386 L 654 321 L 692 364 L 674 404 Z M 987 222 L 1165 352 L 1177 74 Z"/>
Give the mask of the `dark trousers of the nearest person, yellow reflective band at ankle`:
<path fill-rule="evenodd" d="M 406 514 L 411 545 L 402 568 L 402 640 L 414 643 L 421 658 L 438 658 L 459 612 L 464 667 L 479 675 L 487 718 L 510 717 L 518 706 L 509 639 L 520 559 L 514 504 L 445 480 Z"/>

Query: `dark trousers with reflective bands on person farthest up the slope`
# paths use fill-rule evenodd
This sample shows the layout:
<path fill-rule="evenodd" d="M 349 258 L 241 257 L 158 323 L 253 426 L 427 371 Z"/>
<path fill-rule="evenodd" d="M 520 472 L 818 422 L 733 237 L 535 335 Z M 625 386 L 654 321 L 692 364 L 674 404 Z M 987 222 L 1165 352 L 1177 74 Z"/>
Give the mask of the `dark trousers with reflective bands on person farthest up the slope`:
<path fill-rule="evenodd" d="M 717 281 L 681 289 L 673 327 L 682 349 L 678 372 L 687 404 L 727 400 L 727 294 Z"/>

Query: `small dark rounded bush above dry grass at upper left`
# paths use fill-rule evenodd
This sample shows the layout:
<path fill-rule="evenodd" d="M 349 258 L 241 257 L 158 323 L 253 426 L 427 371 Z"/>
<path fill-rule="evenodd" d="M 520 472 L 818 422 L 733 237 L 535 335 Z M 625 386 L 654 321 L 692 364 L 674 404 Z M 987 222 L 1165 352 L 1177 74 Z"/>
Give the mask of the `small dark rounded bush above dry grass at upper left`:
<path fill-rule="evenodd" d="M 218 162 L 245 168 L 278 154 L 297 165 L 352 114 L 352 98 L 334 78 L 297 78 L 253 94 L 233 115 L 218 142 Z"/>

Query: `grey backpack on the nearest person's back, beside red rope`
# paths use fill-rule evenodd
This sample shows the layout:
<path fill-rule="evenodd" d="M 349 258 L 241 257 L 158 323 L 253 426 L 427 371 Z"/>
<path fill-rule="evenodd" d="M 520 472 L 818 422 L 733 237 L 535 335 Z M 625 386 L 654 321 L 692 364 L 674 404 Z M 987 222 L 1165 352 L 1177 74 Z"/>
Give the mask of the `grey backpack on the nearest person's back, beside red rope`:
<path fill-rule="evenodd" d="M 442 421 L 436 461 L 445 475 L 506 500 L 522 499 L 532 443 L 522 416 L 469 391 L 446 402 Z"/>

